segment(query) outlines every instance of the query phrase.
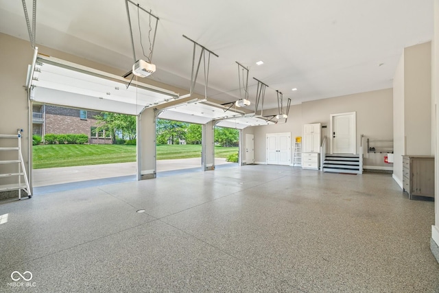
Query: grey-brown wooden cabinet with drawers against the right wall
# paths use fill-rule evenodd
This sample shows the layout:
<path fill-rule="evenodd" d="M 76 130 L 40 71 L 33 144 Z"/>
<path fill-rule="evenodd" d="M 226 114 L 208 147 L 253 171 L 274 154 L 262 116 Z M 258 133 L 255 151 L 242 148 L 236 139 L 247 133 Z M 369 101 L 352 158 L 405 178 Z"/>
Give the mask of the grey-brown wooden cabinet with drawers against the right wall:
<path fill-rule="evenodd" d="M 403 189 L 410 200 L 434 198 L 434 156 L 403 156 Z"/>

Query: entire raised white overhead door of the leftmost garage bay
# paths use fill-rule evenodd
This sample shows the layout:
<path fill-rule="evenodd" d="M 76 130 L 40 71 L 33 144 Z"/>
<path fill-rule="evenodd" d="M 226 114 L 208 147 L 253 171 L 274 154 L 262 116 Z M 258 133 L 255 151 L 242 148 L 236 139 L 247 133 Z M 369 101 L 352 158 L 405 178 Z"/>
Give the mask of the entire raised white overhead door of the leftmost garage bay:
<path fill-rule="evenodd" d="M 71 62 L 38 56 L 31 98 L 36 102 L 138 115 L 178 94 Z"/>

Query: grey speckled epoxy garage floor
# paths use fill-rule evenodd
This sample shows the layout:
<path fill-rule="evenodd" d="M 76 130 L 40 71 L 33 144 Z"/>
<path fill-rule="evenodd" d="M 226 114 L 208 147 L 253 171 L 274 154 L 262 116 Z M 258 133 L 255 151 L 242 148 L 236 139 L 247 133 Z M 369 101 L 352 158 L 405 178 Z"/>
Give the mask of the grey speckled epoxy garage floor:
<path fill-rule="evenodd" d="M 5 213 L 0 292 L 439 292 L 434 202 L 389 174 L 248 165 L 51 191 Z"/>

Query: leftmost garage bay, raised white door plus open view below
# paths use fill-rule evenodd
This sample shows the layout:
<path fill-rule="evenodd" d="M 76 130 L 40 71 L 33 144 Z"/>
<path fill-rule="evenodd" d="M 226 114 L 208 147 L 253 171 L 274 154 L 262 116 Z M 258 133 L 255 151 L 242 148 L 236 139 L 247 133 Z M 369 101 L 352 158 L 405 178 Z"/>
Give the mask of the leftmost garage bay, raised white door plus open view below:
<path fill-rule="evenodd" d="M 72 181 L 81 181 L 85 187 L 90 185 L 83 184 L 84 180 L 101 180 L 96 185 L 102 185 L 120 182 L 126 176 L 130 176 L 129 180 L 138 180 L 138 117 L 147 108 L 179 98 L 177 93 L 143 84 L 137 79 L 130 81 L 118 75 L 45 55 L 38 55 L 33 65 L 29 65 L 27 84 L 33 132 L 40 134 L 39 138 L 36 137 L 36 150 L 32 152 L 32 169 L 35 171 L 35 174 L 31 172 L 30 177 L 32 187 L 69 184 Z M 58 119 L 51 124 L 57 127 L 53 128 L 55 130 L 48 129 L 50 121 L 47 119 Z M 67 156 L 69 160 L 78 156 L 80 164 L 75 166 L 77 169 L 71 169 L 71 172 L 61 176 L 58 181 L 51 181 L 55 176 L 60 177 L 54 164 L 57 163 L 62 168 L 68 167 L 68 164 L 62 159 L 60 152 L 49 148 L 72 148 L 71 154 Z M 73 148 L 88 152 L 81 154 Z M 44 153 L 49 153 L 48 163 L 42 163 Z M 130 163 L 132 166 L 112 166 L 121 163 Z M 84 165 L 97 169 L 86 172 L 82 169 Z M 53 174 L 43 175 L 43 183 L 41 180 L 38 182 L 36 175 L 40 169 L 53 171 Z"/>

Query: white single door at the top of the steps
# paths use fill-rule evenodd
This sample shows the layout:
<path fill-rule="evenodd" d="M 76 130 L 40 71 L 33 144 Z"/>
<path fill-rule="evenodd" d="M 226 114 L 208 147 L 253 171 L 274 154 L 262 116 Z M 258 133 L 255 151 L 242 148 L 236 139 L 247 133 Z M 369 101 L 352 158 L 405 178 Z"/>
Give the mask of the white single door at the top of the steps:
<path fill-rule="evenodd" d="M 355 154 L 355 113 L 331 115 L 334 154 Z"/>

